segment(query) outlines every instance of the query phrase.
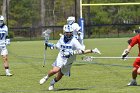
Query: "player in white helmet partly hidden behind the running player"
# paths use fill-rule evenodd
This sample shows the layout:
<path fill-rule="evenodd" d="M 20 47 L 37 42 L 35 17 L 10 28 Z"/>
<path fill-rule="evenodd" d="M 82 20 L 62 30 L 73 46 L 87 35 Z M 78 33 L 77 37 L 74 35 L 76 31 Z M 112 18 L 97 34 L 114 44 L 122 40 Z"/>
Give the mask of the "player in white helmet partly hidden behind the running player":
<path fill-rule="evenodd" d="M 81 32 L 81 27 L 78 23 L 75 22 L 75 17 L 70 16 L 67 18 L 67 25 L 72 25 L 73 28 L 73 36 L 80 42 L 81 45 L 83 44 L 83 33 Z"/>

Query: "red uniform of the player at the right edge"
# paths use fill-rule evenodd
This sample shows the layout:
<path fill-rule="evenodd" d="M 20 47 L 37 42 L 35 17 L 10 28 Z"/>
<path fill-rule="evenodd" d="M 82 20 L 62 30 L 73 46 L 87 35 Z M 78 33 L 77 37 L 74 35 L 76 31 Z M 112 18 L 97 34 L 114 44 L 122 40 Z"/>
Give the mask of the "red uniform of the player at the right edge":
<path fill-rule="evenodd" d="M 139 48 L 139 54 L 138 57 L 140 57 L 140 34 L 134 36 L 133 38 L 130 39 L 129 45 L 133 47 L 135 44 L 138 44 Z M 133 63 L 133 66 L 136 68 L 140 67 L 140 58 L 136 58 L 136 60 Z"/>

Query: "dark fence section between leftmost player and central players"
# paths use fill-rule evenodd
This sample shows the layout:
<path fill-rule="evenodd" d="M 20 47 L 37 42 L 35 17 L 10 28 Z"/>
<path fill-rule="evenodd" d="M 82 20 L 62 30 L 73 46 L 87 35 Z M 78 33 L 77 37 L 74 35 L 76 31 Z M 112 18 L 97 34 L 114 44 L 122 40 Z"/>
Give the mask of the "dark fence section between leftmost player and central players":
<path fill-rule="evenodd" d="M 42 31 L 50 29 L 50 39 L 58 39 L 60 33 L 63 33 L 63 26 L 45 26 L 45 27 L 21 27 L 21 28 L 9 28 L 9 32 L 14 34 L 13 40 L 39 40 L 42 39 Z"/>

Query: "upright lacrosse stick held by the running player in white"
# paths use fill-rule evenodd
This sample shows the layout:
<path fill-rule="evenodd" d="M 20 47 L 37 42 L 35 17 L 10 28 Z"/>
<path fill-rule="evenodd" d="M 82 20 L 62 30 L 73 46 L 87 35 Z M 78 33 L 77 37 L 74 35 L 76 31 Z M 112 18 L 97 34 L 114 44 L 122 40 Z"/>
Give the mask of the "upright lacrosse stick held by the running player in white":
<path fill-rule="evenodd" d="M 47 51 L 47 43 L 49 41 L 49 38 L 50 38 L 50 34 L 51 34 L 51 30 L 50 29 L 47 29 L 45 30 L 44 32 L 42 32 L 42 36 L 45 38 L 44 40 L 44 45 L 45 45 L 45 48 L 44 48 L 44 61 L 43 61 L 43 67 L 45 66 L 46 64 L 46 51 Z"/>

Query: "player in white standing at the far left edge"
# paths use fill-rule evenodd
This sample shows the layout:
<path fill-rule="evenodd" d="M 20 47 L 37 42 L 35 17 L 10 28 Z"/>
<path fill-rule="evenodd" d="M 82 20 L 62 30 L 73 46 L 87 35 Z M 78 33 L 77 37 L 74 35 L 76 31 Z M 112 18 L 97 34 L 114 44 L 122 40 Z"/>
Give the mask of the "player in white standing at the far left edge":
<path fill-rule="evenodd" d="M 10 44 L 10 40 L 6 39 L 8 36 L 8 27 L 4 24 L 4 17 L 0 15 L 0 53 L 3 59 L 6 76 L 12 76 L 9 71 L 8 64 L 8 50 L 6 45 Z"/>

